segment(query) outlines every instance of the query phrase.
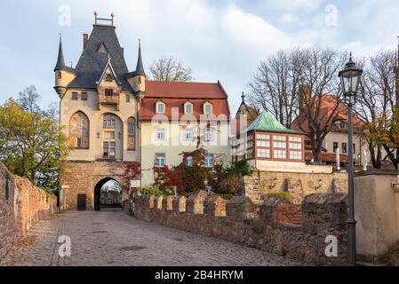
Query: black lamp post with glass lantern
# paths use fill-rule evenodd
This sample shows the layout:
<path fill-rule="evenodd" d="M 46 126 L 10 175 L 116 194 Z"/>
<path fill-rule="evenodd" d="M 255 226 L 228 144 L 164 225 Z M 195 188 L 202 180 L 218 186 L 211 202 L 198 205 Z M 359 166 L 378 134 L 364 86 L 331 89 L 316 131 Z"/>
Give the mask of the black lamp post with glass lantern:
<path fill-rule="evenodd" d="M 356 264 L 356 235 L 355 235 L 355 193 L 354 193 L 354 151 L 353 151 L 353 127 L 352 127 L 352 107 L 356 103 L 356 94 L 359 89 L 359 83 L 363 70 L 356 67 L 352 60 L 352 53 L 350 59 L 345 65 L 345 68 L 339 72 L 339 78 L 343 88 L 345 103 L 347 104 L 347 120 L 348 120 L 348 214 L 347 214 L 347 264 L 355 266 Z"/>

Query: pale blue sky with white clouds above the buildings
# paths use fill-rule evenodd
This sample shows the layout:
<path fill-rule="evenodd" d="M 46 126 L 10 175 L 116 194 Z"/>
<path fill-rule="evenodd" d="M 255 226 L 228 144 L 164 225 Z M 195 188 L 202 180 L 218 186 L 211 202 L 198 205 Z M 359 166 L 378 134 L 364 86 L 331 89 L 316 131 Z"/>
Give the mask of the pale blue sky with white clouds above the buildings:
<path fill-rule="evenodd" d="M 43 106 L 58 101 L 59 33 L 75 66 L 94 11 L 115 12 L 130 70 L 141 38 L 147 71 L 161 56 L 181 59 L 196 81 L 223 84 L 232 113 L 259 61 L 275 51 L 315 44 L 363 56 L 395 48 L 399 36 L 397 0 L 2 0 L 0 11 L 0 102 L 35 85 Z"/>

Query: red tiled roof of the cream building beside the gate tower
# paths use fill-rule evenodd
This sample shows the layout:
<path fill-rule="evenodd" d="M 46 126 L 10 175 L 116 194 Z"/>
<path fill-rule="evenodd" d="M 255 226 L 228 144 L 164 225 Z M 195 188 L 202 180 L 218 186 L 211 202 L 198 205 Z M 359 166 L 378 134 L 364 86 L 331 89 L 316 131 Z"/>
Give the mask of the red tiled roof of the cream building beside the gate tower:
<path fill-rule="evenodd" d="M 229 119 L 230 109 L 227 93 L 218 83 L 186 83 L 186 82 L 146 82 L 146 96 L 140 105 L 140 120 L 151 120 L 156 115 L 156 102 L 163 101 L 166 105 L 165 115 L 172 118 L 172 108 L 179 109 L 179 118 L 184 115 L 184 104 L 192 103 L 196 120 L 203 114 L 203 104 L 210 102 L 212 114 L 224 114 L 223 120 Z M 211 119 L 210 119 L 211 120 Z"/>

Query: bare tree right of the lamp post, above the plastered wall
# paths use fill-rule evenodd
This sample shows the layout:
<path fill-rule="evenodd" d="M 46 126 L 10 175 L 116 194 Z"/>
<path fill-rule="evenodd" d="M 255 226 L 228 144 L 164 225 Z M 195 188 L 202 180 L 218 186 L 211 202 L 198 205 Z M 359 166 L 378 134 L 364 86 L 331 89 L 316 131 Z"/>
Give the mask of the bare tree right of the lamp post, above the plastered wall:
<path fill-rule="evenodd" d="M 382 148 L 386 149 L 392 162 L 395 160 L 395 155 L 387 146 L 388 122 L 395 108 L 395 63 L 395 51 L 379 51 L 363 59 L 362 63 L 363 82 L 356 112 L 367 123 L 366 139 L 371 162 L 376 169 L 380 169 L 385 160 Z"/>

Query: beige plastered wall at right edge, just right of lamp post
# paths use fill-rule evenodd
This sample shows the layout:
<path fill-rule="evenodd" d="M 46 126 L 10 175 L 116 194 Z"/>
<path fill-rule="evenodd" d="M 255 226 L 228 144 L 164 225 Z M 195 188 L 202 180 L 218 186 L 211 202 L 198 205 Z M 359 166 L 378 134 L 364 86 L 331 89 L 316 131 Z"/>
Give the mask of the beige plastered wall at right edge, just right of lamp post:
<path fill-rule="evenodd" d="M 355 174 L 357 254 L 384 261 L 399 241 L 399 172 L 371 170 Z"/>

